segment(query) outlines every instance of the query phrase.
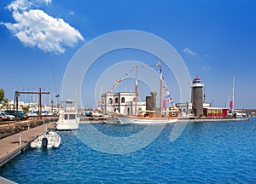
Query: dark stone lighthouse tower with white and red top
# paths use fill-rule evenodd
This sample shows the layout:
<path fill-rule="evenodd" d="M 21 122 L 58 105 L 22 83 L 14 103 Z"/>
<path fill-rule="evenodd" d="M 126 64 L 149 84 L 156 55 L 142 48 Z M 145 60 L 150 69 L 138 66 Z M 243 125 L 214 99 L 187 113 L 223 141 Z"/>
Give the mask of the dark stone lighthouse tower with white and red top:
<path fill-rule="evenodd" d="M 204 114 L 203 108 L 203 87 L 204 84 L 201 82 L 201 78 L 195 78 L 191 86 L 191 103 L 192 111 L 195 117 L 201 117 Z"/>

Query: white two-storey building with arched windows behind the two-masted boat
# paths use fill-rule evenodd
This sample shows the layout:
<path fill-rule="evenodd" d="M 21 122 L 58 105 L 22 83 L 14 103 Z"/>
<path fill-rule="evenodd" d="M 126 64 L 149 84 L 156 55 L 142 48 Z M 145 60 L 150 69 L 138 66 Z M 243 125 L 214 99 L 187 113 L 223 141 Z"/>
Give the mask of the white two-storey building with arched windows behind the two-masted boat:
<path fill-rule="evenodd" d="M 121 114 L 135 114 L 135 108 L 137 106 L 138 111 L 146 110 L 145 101 L 135 102 L 136 94 L 119 92 L 115 94 L 106 93 L 102 95 L 102 110 L 106 112 L 119 112 Z"/>

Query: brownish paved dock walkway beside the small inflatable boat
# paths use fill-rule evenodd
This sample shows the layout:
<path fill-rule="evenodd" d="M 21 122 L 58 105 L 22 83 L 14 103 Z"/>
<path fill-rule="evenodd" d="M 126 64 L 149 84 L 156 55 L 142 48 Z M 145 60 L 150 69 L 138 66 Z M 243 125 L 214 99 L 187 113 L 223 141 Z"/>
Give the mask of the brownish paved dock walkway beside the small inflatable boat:
<path fill-rule="evenodd" d="M 43 124 L 1 139 L 0 167 L 8 163 L 12 158 L 15 158 L 20 152 L 26 150 L 27 147 L 30 147 L 30 142 L 37 138 L 38 135 L 43 135 L 46 129 L 53 127 L 54 123 Z"/>

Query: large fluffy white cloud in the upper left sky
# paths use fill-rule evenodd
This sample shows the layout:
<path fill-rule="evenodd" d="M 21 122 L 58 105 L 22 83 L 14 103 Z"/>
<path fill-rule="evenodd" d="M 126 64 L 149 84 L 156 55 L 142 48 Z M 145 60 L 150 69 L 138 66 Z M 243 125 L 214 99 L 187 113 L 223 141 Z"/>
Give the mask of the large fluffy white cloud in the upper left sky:
<path fill-rule="evenodd" d="M 73 47 L 79 40 L 84 40 L 79 31 L 64 20 L 49 16 L 40 9 L 29 9 L 37 2 L 51 3 L 51 0 L 17 0 L 8 7 L 13 10 L 15 23 L 3 25 L 13 32 L 21 43 L 38 47 L 45 52 L 62 54 L 65 47 Z"/>

